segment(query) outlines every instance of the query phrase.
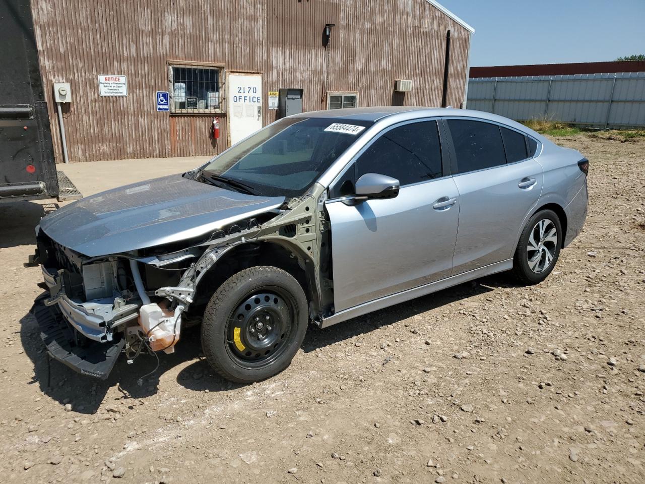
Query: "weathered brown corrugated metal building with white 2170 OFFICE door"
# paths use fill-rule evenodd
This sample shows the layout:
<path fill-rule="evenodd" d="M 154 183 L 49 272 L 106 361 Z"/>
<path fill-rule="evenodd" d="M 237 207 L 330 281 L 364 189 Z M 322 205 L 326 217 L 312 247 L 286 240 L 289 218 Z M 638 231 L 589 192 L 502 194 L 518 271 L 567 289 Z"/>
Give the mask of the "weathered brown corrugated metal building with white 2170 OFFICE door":
<path fill-rule="evenodd" d="M 54 82 L 70 84 L 71 162 L 215 154 L 299 103 L 441 106 L 446 65 L 446 103 L 466 101 L 473 30 L 434 0 L 32 0 L 32 14 L 59 162 Z"/>

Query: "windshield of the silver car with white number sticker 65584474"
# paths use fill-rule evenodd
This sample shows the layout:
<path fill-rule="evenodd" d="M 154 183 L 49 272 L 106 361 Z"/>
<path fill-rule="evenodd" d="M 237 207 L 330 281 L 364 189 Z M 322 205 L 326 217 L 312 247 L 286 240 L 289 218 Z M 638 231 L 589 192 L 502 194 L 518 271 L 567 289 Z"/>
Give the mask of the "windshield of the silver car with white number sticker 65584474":
<path fill-rule="evenodd" d="M 328 117 L 281 119 L 212 159 L 201 176 L 254 195 L 299 196 L 370 125 Z"/>

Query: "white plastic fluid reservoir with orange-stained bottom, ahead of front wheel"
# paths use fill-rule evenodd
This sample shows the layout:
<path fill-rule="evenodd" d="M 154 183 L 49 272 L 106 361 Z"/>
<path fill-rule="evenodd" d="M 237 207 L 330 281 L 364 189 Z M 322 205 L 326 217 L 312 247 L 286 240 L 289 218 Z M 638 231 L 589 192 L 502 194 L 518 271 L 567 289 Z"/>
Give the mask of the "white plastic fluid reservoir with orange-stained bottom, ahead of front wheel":
<path fill-rule="evenodd" d="M 139 309 L 139 325 L 148 335 L 148 342 L 153 351 L 164 350 L 166 353 L 174 352 L 175 344 L 179 341 L 181 330 L 181 316 L 171 311 L 161 303 L 150 303 Z M 175 334 L 176 332 L 176 334 Z"/>

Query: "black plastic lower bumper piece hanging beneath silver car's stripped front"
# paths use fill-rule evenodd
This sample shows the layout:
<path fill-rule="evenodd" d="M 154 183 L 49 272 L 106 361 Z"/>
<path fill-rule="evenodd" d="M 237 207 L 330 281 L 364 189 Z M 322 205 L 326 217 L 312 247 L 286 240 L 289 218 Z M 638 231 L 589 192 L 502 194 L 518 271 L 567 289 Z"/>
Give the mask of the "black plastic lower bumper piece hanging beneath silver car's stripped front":
<path fill-rule="evenodd" d="M 34 317 L 41 330 L 41 338 L 47 352 L 52 358 L 60 361 L 73 370 L 94 378 L 106 379 L 125 345 L 125 340 L 109 343 L 88 341 L 80 347 L 75 344 L 72 328 L 64 321 L 61 314 L 45 306 L 45 297 L 39 297 L 34 303 Z"/>

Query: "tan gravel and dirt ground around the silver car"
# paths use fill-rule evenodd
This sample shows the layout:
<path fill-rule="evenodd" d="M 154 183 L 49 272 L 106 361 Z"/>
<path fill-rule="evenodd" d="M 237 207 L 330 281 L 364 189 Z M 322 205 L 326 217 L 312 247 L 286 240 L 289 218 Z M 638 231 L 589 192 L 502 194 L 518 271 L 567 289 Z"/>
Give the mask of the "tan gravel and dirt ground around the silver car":
<path fill-rule="evenodd" d="M 644 482 L 645 141 L 556 141 L 591 161 L 590 212 L 544 283 L 502 274 L 312 327 L 250 386 L 213 376 L 196 330 L 141 386 L 150 357 L 105 382 L 52 363 L 48 385 L 22 267 L 41 206 L 2 206 L 0 480 Z"/>

